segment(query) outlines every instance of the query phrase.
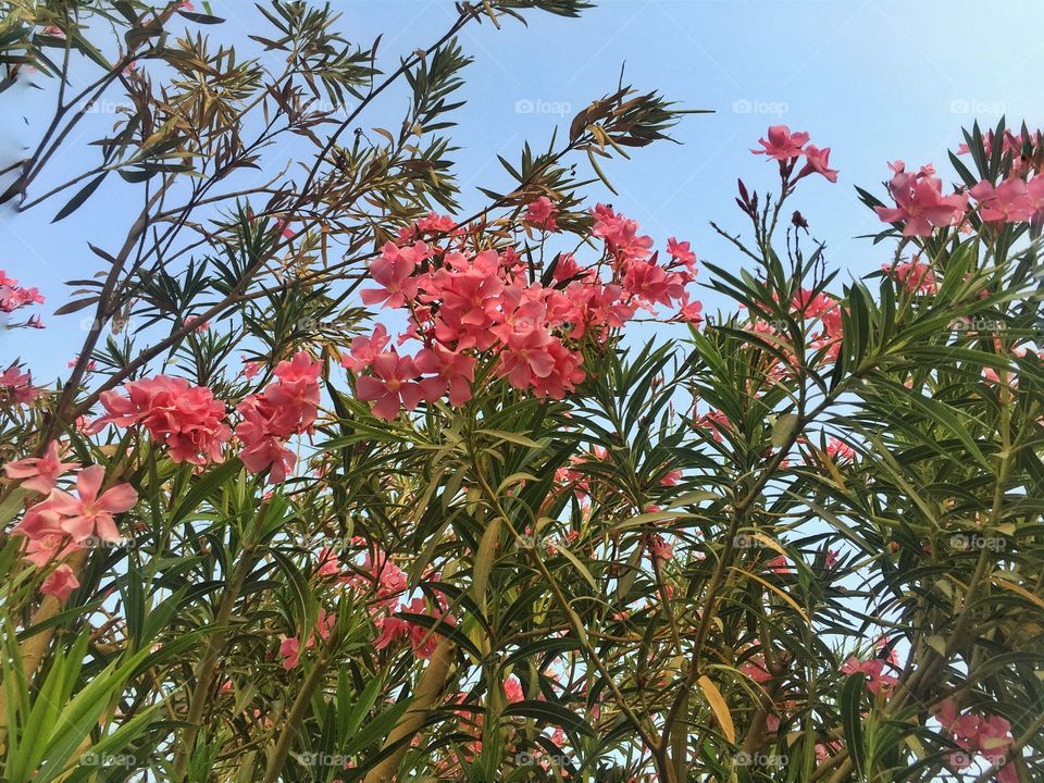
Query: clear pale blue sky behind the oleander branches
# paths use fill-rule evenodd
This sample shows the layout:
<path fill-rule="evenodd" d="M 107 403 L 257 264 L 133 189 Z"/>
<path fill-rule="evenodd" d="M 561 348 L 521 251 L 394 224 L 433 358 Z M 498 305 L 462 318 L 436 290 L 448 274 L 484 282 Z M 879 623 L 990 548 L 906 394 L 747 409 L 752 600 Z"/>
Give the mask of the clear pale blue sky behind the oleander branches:
<path fill-rule="evenodd" d="M 386 70 L 399 53 L 435 40 L 455 14 L 452 0 L 332 4 L 344 14 L 339 28 L 348 38 L 366 45 L 385 34 Z M 225 29 L 208 30 L 215 38 L 246 42 L 246 34 L 262 26 L 252 2 L 216 0 L 211 7 L 227 18 Z M 1009 124 L 1044 124 L 1040 13 L 1039 0 L 599 0 L 577 20 L 527 12 L 527 28 L 511 21 L 499 32 L 488 23 L 470 26 L 462 45 L 475 62 L 465 72 L 468 105 L 455 134 L 464 207 L 480 202 L 476 185 L 506 185 L 497 154 L 518 160 L 524 140 L 546 145 L 556 124 L 568 125 L 614 88 L 626 63 L 635 87 L 716 113 L 683 120 L 674 132 L 681 146 L 655 145 L 631 162 L 608 165 L 620 196 L 593 188 L 593 198 L 637 219 L 658 247 L 678 236 L 689 239 L 701 259 L 735 268 L 737 253 L 708 221 L 745 227 L 732 202 L 736 177 L 751 189 L 773 185 L 774 166 L 748 150 L 769 125 L 787 124 L 831 147 L 831 165 L 841 170 L 836 185 L 819 177 L 805 183 L 795 207 L 812 235 L 828 243 L 832 266 L 872 271 L 888 260 L 887 251 L 855 238 L 880 224 L 858 202 L 854 185 L 881 191 L 886 162 L 895 159 L 910 166 L 933 161 L 952 179 L 945 150 L 974 119 L 993 125 L 1005 113 Z M 47 85 L 39 76 L 33 80 Z M 391 96 L 360 124 L 394 122 L 399 98 Z M 52 100 L 48 89 L 24 84 L 0 94 L 0 169 L 38 136 L 41 110 Z M 95 151 L 89 161 L 77 160 L 77 151 L 111 117 L 90 120 L 80 144 L 55 161 L 59 173 L 83 171 L 96 160 Z M 130 187 L 107 182 L 96 200 L 53 226 L 62 198 L 22 214 L 10 204 L 0 208 L 0 270 L 39 286 L 48 299 L 45 332 L 0 332 L 0 364 L 21 355 L 38 383 L 64 370 L 82 339 L 84 313 L 51 313 L 69 297 L 63 281 L 100 269 L 86 243 L 112 248 L 125 236 L 138 203 L 128 198 Z"/>

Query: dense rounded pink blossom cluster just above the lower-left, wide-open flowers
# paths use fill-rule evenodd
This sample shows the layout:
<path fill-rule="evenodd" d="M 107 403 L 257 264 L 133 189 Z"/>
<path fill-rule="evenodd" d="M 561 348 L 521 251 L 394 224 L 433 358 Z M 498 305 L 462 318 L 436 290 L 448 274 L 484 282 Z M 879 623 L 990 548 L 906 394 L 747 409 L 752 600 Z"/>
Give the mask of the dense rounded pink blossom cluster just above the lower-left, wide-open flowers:
<path fill-rule="evenodd" d="M 153 440 L 166 446 L 175 462 L 207 464 L 220 462 L 232 431 L 225 424 L 225 406 L 206 386 L 166 375 L 133 381 L 124 385 L 126 396 L 103 391 L 105 415 L 92 425 L 100 432 L 113 424 L 141 424 Z"/>

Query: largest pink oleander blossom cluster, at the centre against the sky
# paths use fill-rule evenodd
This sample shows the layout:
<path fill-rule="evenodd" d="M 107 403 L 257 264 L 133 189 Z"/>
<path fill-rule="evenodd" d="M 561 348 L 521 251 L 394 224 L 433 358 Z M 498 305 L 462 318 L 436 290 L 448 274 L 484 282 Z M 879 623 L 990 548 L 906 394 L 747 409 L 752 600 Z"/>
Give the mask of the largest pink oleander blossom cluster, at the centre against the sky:
<path fill-rule="evenodd" d="M 556 214 L 542 197 L 525 220 L 552 231 Z M 422 347 L 414 356 L 399 353 L 382 325 L 356 338 L 341 363 L 360 374 L 357 397 L 385 420 L 446 396 L 460 406 L 471 399 L 478 361 L 489 358 L 514 388 L 561 399 L 585 377 L 579 343 L 586 336 L 602 340 L 637 309 L 656 304 L 680 304 L 681 318 L 698 322 L 700 306 L 685 291 L 696 261 L 688 243 L 672 238 L 671 260 L 660 264 L 637 223 L 602 204 L 594 216 L 594 236 L 606 246 L 602 262 L 582 268 L 562 253 L 546 284 L 527 278 L 513 248 L 473 252 L 463 239 L 447 249 L 418 238 L 450 231 L 449 217 L 430 215 L 399 244 L 385 244 L 370 266 L 377 286 L 363 289 L 362 300 L 405 309 L 409 327 L 397 344 L 413 339 Z"/>

